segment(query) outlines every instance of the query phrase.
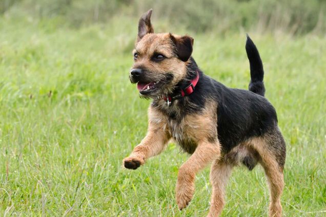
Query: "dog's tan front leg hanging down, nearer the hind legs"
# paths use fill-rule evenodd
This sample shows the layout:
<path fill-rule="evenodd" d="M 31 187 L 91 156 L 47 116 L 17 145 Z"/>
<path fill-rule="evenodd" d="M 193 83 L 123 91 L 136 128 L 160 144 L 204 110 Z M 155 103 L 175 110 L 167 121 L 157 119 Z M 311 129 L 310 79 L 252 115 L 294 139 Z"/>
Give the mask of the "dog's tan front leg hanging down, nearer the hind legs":
<path fill-rule="evenodd" d="M 193 197 L 196 173 L 219 157 L 220 145 L 218 142 L 198 142 L 195 152 L 181 165 L 176 185 L 176 201 L 180 210 L 185 208 Z"/>

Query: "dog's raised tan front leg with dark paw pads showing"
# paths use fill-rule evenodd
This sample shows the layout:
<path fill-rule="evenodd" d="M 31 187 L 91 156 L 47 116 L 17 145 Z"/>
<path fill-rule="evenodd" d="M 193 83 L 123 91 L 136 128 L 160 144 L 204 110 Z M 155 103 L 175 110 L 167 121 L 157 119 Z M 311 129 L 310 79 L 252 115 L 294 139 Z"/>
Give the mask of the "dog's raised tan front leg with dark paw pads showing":
<path fill-rule="evenodd" d="M 165 123 L 154 119 L 151 110 L 149 111 L 149 118 L 146 137 L 134 148 L 130 156 L 123 161 L 124 166 L 128 169 L 137 169 L 148 158 L 160 154 L 170 139 L 170 134 L 165 129 Z"/>

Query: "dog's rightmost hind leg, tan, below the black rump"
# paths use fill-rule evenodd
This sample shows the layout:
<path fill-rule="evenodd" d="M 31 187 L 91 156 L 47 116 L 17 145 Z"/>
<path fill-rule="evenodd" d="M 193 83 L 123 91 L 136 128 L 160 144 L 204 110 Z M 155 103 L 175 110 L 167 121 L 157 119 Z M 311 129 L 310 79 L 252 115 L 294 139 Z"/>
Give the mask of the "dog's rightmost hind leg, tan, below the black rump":
<path fill-rule="evenodd" d="M 253 140 L 252 145 L 260 155 L 270 188 L 269 216 L 282 215 L 281 194 L 284 188 L 283 166 L 286 156 L 285 142 L 277 130 Z"/>

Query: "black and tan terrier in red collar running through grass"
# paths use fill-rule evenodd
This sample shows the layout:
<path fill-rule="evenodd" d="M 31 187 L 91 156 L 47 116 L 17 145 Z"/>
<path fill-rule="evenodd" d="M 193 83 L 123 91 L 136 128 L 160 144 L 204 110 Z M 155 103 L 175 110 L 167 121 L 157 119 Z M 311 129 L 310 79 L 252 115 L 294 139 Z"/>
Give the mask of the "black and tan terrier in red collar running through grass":
<path fill-rule="evenodd" d="M 192 200 L 196 173 L 211 164 L 208 216 L 218 216 L 232 168 L 243 164 L 252 170 L 259 163 L 270 188 L 269 216 L 281 216 L 286 143 L 275 108 L 264 97 L 263 66 L 253 41 L 247 34 L 249 91 L 227 88 L 198 68 L 191 56 L 192 37 L 155 34 L 151 14 L 152 9 L 139 19 L 129 74 L 140 97 L 152 99 L 148 132 L 123 165 L 136 169 L 174 140 L 191 155 L 178 170 L 178 208 Z"/>

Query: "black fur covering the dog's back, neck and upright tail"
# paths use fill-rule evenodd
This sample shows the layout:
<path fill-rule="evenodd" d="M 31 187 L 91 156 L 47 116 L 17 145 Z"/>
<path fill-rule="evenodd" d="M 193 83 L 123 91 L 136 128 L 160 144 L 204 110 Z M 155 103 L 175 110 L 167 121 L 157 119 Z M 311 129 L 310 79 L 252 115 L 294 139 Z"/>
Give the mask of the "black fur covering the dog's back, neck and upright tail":
<path fill-rule="evenodd" d="M 189 80 L 199 72 L 199 81 L 195 91 L 187 98 L 175 101 L 180 107 L 180 112 L 175 113 L 169 107 L 159 106 L 158 100 L 154 100 L 152 106 L 159 107 L 160 111 L 171 119 L 181 120 L 185 115 L 200 113 L 205 107 L 206 98 L 214 99 L 217 104 L 217 132 L 222 151 L 227 154 L 233 147 L 252 137 L 262 136 L 277 127 L 277 116 L 273 105 L 264 98 L 263 68 L 258 50 L 253 41 L 247 36 L 246 51 L 250 61 L 251 81 L 249 91 L 232 89 L 206 76 L 198 68 L 191 57 L 188 64 L 188 77 L 181 81 L 175 92 L 189 83 Z M 205 96 L 205 97 L 203 97 Z M 192 106 L 188 104 L 191 103 Z M 194 106 L 195 105 L 195 106 Z M 216 138 L 212 138 L 214 140 Z M 194 149 L 185 151 L 192 154 Z M 252 169 L 252 159 L 248 156 L 243 162 Z"/>

